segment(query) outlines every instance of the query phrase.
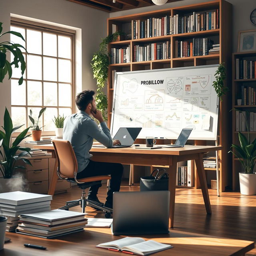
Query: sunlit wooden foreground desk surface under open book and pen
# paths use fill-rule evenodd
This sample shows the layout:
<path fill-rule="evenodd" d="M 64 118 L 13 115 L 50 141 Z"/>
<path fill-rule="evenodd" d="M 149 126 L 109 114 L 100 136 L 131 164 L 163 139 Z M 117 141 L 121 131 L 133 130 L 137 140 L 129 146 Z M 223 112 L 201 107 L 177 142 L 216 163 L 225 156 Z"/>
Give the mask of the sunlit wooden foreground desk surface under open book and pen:
<path fill-rule="evenodd" d="M 11 242 L 4 245 L 1 256 L 70 256 L 70 255 L 108 255 L 118 256 L 118 252 L 96 248 L 97 244 L 117 240 L 123 236 L 113 236 L 110 228 L 86 228 L 83 232 L 60 236 L 58 239 L 44 239 L 6 232 Z M 138 236 L 138 235 L 136 235 Z M 142 235 L 146 240 L 171 244 L 171 249 L 158 252 L 156 256 L 242 256 L 254 248 L 254 242 L 230 238 L 170 230 L 169 234 Z M 23 244 L 38 244 L 47 250 L 26 248 Z M 125 254 L 124 254 L 125 255 Z"/>

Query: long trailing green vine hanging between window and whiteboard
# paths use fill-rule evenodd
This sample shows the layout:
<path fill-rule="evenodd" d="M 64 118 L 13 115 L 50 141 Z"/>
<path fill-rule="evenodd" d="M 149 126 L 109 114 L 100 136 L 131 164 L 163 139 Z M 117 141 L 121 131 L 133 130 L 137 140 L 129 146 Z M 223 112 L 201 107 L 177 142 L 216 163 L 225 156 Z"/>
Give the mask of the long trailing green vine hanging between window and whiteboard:
<path fill-rule="evenodd" d="M 98 86 L 96 104 L 98 110 L 102 112 L 102 116 L 105 120 L 107 119 L 106 110 L 108 107 L 108 99 L 103 92 L 103 88 L 105 86 L 106 79 L 108 78 L 109 53 L 107 46 L 110 42 L 116 40 L 116 38 L 122 34 L 124 33 L 116 31 L 114 34 L 109 35 L 106 38 L 102 38 L 102 42 L 100 43 L 100 49 L 94 53 L 91 62 L 93 78 L 97 80 Z"/>

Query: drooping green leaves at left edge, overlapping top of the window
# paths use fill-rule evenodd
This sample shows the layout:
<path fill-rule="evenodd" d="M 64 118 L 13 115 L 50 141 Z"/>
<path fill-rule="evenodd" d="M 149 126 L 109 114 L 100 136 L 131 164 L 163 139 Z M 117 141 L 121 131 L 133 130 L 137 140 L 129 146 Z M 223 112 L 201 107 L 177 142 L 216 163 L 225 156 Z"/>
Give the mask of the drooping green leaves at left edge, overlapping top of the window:
<path fill-rule="evenodd" d="M 3 36 L 4 34 L 13 34 L 25 41 L 22 34 L 15 31 L 8 31 L 1 34 L 2 29 L 3 29 L 2 22 L 0 22 L 0 37 Z M 19 85 L 22 84 L 23 74 L 26 69 L 26 62 L 24 60 L 24 56 L 22 55 L 22 51 L 20 50 L 20 48 L 23 48 L 26 51 L 26 49 L 20 44 L 15 44 L 13 42 L 0 42 L 0 82 L 3 82 L 4 77 L 6 76 L 7 73 L 8 73 L 8 79 L 10 79 L 12 77 L 12 65 L 14 65 L 14 68 L 18 68 L 20 63 L 21 77 L 18 83 Z M 7 52 L 11 52 L 14 56 L 14 60 L 11 63 L 8 62 L 8 60 L 6 60 Z"/>

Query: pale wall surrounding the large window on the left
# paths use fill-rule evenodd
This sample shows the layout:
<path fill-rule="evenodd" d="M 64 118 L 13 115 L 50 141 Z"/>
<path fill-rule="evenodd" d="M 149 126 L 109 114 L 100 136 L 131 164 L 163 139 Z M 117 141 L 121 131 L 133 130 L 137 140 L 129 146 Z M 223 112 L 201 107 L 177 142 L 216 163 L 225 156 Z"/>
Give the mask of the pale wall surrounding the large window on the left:
<path fill-rule="evenodd" d="M 93 80 L 90 60 L 98 50 L 100 38 L 106 36 L 106 20 L 109 14 L 66 0 L 0 0 L 0 22 L 3 22 L 3 32 L 10 30 L 10 15 L 17 14 L 64 24 L 82 30 L 82 78 L 77 85 L 82 90 L 96 89 Z M 10 36 L 4 38 L 10 40 Z M 79 80 L 78 80 L 79 81 Z M 10 80 L 0 83 L 0 126 L 3 121 L 5 106 L 10 110 Z"/>

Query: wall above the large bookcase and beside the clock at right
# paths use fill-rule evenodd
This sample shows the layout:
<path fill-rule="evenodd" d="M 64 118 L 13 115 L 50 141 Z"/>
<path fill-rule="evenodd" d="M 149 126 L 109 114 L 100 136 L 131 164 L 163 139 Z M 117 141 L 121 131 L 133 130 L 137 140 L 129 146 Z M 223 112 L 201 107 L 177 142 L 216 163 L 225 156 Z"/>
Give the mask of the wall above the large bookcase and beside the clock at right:
<path fill-rule="evenodd" d="M 233 5 L 233 38 L 230 40 L 230 44 L 232 45 L 233 52 L 237 51 L 237 43 L 238 43 L 238 31 L 240 30 L 252 30 L 256 29 L 250 22 L 250 14 L 252 10 L 256 8 L 256 0 L 226 0 Z M 149 6 L 142 8 L 135 8 L 132 10 L 125 10 L 119 12 L 110 13 L 110 18 L 116 16 L 123 16 L 129 14 L 135 14 L 140 12 L 150 12 L 153 10 L 161 10 L 166 8 L 172 8 L 176 6 L 184 6 L 188 4 L 197 4 L 201 2 L 210 2 L 207 0 L 182 0 L 178 2 L 167 3 L 162 6 Z M 229 40 L 229 38 L 227 38 Z"/>

